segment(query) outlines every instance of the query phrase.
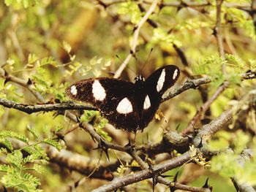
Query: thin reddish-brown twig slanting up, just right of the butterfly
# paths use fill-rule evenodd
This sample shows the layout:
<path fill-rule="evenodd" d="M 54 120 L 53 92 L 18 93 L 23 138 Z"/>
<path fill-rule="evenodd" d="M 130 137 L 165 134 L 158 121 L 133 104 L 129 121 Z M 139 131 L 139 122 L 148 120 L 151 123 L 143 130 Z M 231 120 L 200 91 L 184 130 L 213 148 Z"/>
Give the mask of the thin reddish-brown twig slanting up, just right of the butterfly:
<path fill-rule="evenodd" d="M 202 107 L 200 107 L 200 110 L 197 111 L 197 114 L 195 114 L 195 116 L 192 118 L 192 120 L 189 122 L 189 125 L 187 126 L 187 128 L 185 128 L 181 133 L 182 134 L 187 134 L 189 131 L 192 130 L 192 128 L 195 126 L 195 123 L 200 119 L 200 117 L 206 112 L 206 110 L 208 110 L 208 108 L 211 106 L 211 104 L 215 101 L 215 99 L 217 99 L 217 97 L 223 92 L 225 91 L 225 89 L 228 87 L 229 82 L 224 82 L 221 86 L 219 86 L 219 88 L 217 89 L 217 91 L 214 93 L 213 96 L 211 96 L 210 99 L 208 99 L 208 101 L 206 101 L 206 103 L 203 104 Z"/>

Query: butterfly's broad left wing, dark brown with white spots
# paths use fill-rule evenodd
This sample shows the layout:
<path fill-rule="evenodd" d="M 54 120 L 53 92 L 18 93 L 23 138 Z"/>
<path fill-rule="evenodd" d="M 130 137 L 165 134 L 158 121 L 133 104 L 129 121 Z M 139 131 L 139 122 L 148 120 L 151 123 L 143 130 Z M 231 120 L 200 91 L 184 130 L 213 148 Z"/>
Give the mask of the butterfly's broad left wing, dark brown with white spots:
<path fill-rule="evenodd" d="M 97 107 L 116 128 L 135 132 L 140 118 L 134 86 L 119 79 L 92 78 L 75 82 L 66 93 L 71 99 Z"/>

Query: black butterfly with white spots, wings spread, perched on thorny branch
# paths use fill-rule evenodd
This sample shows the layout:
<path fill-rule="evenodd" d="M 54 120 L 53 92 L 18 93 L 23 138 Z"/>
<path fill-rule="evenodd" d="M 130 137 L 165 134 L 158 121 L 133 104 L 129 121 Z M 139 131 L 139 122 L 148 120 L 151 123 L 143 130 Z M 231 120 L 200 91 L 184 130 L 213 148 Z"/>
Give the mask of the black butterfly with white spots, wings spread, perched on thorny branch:
<path fill-rule="evenodd" d="M 146 81 L 140 75 L 135 82 L 100 77 L 80 80 L 67 88 L 71 99 L 92 104 L 116 128 L 136 132 L 154 118 L 162 95 L 178 80 L 177 66 L 163 66 Z"/>

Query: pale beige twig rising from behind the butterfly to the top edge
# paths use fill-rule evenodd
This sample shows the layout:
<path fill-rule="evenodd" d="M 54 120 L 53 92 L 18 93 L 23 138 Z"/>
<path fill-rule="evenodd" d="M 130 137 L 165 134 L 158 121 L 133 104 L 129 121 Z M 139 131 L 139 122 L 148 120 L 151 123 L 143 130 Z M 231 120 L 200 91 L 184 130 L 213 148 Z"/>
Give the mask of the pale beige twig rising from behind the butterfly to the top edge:
<path fill-rule="evenodd" d="M 140 28 L 143 26 L 143 24 L 148 20 L 149 16 L 154 12 L 154 9 L 157 7 L 158 0 L 154 0 L 153 3 L 151 4 L 151 7 L 149 7 L 148 11 L 146 12 L 146 15 L 143 16 L 143 18 L 140 20 L 138 23 L 138 26 L 136 26 L 136 29 L 134 31 L 133 35 L 133 41 L 132 41 L 132 46 L 131 46 L 131 53 L 127 55 L 127 58 L 124 60 L 124 62 L 119 66 L 119 68 L 116 70 L 116 73 L 114 75 L 115 78 L 120 77 L 121 72 L 123 72 L 124 68 L 127 66 L 129 59 L 132 58 L 132 55 L 136 53 L 136 46 L 138 43 L 138 37 L 140 34 Z"/>

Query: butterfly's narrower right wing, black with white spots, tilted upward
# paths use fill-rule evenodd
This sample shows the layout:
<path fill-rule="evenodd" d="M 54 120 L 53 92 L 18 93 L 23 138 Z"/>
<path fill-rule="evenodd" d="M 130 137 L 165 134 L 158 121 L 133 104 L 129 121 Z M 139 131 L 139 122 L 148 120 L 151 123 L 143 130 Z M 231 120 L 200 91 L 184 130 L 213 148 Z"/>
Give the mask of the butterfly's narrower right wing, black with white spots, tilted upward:
<path fill-rule="evenodd" d="M 154 118 L 154 114 L 159 108 L 162 95 L 168 88 L 173 86 L 178 80 L 180 70 L 177 66 L 163 66 L 153 74 L 151 74 L 145 82 L 146 96 L 143 99 L 143 107 L 141 112 L 140 128 L 144 128 Z"/>

